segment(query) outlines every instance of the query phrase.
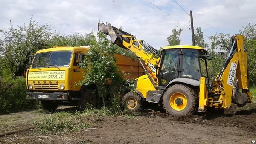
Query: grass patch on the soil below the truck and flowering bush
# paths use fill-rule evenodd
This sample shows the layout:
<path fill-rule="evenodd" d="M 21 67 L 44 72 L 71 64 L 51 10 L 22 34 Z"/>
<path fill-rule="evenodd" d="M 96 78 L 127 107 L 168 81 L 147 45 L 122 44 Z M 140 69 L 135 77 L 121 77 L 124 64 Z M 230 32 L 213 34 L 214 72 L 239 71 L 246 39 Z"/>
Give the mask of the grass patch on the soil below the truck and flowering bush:
<path fill-rule="evenodd" d="M 126 115 L 127 114 L 127 115 Z M 127 118 L 134 118 L 134 115 L 124 110 L 116 110 L 111 107 L 102 107 L 93 109 L 88 107 L 84 112 L 80 111 L 57 111 L 45 116 L 44 118 L 34 120 L 36 130 L 41 134 L 48 132 L 64 133 L 82 130 L 83 128 L 95 127 L 99 118 L 103 116 L 126 115 Z"/>

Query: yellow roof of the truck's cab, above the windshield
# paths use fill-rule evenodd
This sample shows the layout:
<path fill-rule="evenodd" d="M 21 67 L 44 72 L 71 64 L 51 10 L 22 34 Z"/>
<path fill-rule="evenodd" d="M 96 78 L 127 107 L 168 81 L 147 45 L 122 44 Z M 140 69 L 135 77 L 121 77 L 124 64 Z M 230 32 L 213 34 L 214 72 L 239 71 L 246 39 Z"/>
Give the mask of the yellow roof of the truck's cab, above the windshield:
<path fill-rule="evenodd" d="M 88 52 L 90 49 L 90 46 L 54 46 L 52 48 L 48 49 L 41 49 L 37 51 L 36 53 L 42 53 L 42 52 L 52 52 L 52 51 L 80 51 L 80 52 Z"/>

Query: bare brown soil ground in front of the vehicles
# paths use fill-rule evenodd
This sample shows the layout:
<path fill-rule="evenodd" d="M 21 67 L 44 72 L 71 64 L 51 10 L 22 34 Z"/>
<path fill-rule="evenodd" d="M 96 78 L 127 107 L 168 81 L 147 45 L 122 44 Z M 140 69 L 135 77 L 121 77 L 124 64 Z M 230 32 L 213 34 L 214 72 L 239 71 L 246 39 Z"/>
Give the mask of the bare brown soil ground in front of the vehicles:
<path fill-rule="evenodd" d="M 17 130 L 44 115 L 49 114 L 36 110 L 0 115 L 0 125 L 2 131 Z M 8 144 L 251 144 L 252 140 L 256 140 L 256 104 L 233 105 L 224 114 L 196 113 L 180 118 L 161 109 L 144 110 L 138 116 L 104 116 L 95 121 L 94 128 L 76 132 L 39 135 L 26 130 L 0 137 L 0 143 Z"/>

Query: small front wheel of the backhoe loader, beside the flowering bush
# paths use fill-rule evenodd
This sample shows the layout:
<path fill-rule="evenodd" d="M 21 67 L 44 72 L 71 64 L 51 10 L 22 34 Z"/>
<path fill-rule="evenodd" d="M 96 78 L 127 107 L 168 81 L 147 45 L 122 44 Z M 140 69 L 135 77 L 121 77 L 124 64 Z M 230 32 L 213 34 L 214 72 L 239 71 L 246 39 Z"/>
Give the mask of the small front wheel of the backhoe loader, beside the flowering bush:
<path fill-rule="evenodd" d="M 143 104 L 143 100 L 140 95 L 134 95 L 132 92 L 126 93 L 122 98 L 122 102 L 130 112 L 140 111 Z"/>

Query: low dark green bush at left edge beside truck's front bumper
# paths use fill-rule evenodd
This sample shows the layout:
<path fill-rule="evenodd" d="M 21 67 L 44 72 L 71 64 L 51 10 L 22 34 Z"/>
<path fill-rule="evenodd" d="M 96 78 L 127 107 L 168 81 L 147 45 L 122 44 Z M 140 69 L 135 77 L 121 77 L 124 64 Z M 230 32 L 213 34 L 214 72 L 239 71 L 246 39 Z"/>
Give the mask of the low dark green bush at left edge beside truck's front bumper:
<path fill-rule="evenodd" d="M 0 113 L 20 112 L 37 109 L 38 102 L 25 98 L 26 79 L 16 78 L 12 87 L 0 96 Z"/>

